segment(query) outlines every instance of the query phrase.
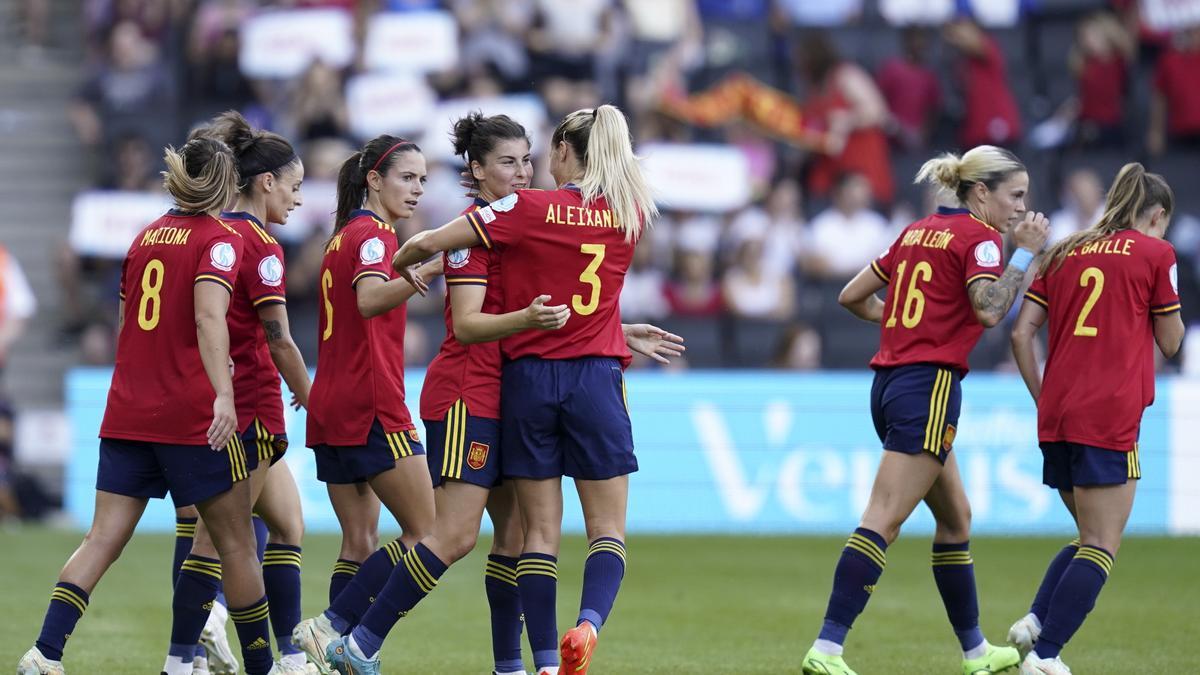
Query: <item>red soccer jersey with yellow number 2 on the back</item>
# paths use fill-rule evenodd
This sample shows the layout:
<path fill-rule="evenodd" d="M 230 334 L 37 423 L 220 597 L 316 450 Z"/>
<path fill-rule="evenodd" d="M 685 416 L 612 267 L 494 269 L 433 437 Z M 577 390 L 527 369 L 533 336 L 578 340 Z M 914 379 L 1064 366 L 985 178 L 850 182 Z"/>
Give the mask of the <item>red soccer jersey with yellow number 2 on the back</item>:
<path fill-rule="evenodd" d="M 1126 229 L 1076 249 L 1025 297 L 1050 317 L 1038 441 L 1132 450 L 1154 402 L 1152 317 L 1180 311 L 1175 249 Z"/>

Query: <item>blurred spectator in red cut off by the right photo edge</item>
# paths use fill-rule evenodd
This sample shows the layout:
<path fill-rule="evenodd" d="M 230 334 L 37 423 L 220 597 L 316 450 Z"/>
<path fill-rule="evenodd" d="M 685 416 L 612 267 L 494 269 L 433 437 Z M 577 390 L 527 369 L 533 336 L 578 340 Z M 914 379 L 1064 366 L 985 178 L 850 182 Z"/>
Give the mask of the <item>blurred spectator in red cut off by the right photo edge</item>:
<path fill-rule="evenodd" d="M 1146 148 L 1200 148 L 1200 26 L 1176 32 L 1154 67 Z"/>

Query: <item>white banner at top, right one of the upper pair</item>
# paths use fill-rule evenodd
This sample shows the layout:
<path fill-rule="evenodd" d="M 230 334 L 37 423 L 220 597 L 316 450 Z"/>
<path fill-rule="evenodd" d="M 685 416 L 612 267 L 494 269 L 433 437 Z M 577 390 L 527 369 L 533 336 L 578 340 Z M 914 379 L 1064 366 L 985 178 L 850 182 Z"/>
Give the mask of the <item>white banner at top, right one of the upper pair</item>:
<path fill-rule="evenodd" d="M 362 52 L 372 71 L 452 68 L 458 62 L 458 23 L 450 12 L 383 12 L 367 23 Z"/>

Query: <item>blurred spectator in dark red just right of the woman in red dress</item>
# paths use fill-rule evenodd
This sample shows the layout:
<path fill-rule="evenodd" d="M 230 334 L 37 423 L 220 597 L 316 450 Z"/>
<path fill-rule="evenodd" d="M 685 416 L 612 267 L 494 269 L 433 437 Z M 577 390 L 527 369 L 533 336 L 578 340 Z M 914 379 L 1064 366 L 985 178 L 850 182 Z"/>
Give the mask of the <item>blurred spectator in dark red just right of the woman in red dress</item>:
<path fill-rule="evenodd" d="M 876 79 L 888 102 L 888 133 L 902 148 L 923 150 L 942 109 L 942 86 L 928 64 L 929 29 L 906 26 L 901 54 L 880 66 Z"/>

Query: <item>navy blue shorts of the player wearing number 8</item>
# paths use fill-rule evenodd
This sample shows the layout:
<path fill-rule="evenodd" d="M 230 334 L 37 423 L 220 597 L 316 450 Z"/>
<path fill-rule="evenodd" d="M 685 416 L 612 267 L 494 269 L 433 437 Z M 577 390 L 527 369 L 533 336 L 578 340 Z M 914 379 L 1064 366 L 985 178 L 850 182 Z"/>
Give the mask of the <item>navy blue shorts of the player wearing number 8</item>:
<path fill-rule="evenodd" d="M 101 438 L 96 489 L 158 500 L 170 492 L 175 507 L 185 507 L 227 491 L 257 466 L 258 459 L 246 454 L 238 436 L 223 450 Z"/>

